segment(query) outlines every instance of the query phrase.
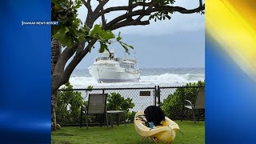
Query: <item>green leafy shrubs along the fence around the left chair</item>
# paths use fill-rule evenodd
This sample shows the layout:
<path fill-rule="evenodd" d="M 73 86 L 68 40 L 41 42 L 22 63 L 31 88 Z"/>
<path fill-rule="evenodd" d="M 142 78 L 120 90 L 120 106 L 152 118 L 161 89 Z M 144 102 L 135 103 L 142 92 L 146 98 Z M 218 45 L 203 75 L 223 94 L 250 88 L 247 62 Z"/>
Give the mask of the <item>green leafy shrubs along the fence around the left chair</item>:
<path fill-rule="evenodd" d="M 88 88 L 92 88 L 89 86 Z M 87 92 L 91 89 L 86 89 Z M 81 106 L 87 106 L 88 101 L 82 98 L 82 93 L 73 90 L 70 82 L 67 82 L 62 90 L 58 90 L 58 109 L 56 111 L 57 122 L 61 125 L 65 124 L 78 124 L 80 123 Z M 110 93 L 107 97 L 106 109 L 107 110 L 125 110 L 126 120 L 131 122 L 134 118 L 135 112 L 130 112 L 134 108 L 134 102 L 131 98 L 123 98 L 120 94 Z M 124 115 L 120 116 L 121 122 L 124 121 Z M 83 122 L 85 116 L 83 115 Z M 116 116 L 114 116 L 116 119 Z M 101 115 L 89 115 L 89 122 L 101 122 Z"/>

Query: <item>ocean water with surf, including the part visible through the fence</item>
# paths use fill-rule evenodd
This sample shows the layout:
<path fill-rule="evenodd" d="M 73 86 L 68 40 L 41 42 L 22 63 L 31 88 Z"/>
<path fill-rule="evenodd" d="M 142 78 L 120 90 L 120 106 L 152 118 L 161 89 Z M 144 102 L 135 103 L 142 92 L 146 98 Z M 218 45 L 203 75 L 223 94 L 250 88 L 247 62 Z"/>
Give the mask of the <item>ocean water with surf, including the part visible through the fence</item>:
<path fill-rule="evenodd" d="M 135 106 L 131 111 L 142 111 L 147 106 L 154 105 L 154 86 L 183 86 L 188 82 L 204 81 L 204 68 L 169 68 L 169 69 L 141 69 L 141 79 L 139 82 L 119 82 L 119 83 L 98 83 L 87 69 L 74 70 L 70 77 L 70 83 L 74 89 L 84 89 L 87 86 L 94 88 L 127 88 L 139 87 L 149 89 L 130 89 L 130 90 L 105 90 L 106 94 L 118 93 L 124 98 L 132 98 Z M 150 96 L 139 96 L 140 91 L 150 91 Z M 160 101 L 163 102 L 169 94 L 173 94 L 175 88 L 161 90 Z M 88 94 L 102 93 L 102 90 L 93 90 Z M 88 100 L 88 96 L 83 92 L 82 97 Z"/>

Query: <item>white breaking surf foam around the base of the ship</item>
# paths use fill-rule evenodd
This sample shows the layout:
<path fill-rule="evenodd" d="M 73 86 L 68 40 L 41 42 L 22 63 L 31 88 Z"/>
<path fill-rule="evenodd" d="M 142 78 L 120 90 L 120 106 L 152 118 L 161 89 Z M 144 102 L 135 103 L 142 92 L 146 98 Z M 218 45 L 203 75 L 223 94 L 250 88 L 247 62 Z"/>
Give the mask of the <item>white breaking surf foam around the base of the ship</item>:
<path fill-rule="evenodd" d="M 122 83 L 98 83 L 93 77 L 71 77 L 70 83 L 74 88 L 94 88 L 107 87 L 149 87 L 149 86 L 181 86 L 188 82 L 198 82 L 205 79 L 204 74 L 159 74 L 141 76 L 139 82 L 122 82 Z"/>

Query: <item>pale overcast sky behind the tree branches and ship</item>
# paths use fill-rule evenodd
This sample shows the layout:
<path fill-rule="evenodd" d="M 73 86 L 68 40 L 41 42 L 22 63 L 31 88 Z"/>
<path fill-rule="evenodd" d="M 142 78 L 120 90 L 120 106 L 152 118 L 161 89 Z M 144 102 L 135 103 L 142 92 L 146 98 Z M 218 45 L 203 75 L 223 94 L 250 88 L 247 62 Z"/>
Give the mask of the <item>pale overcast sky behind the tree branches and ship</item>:
<path fill-rule="evenodd" d="M 126 6 L 126 3 L 124 0 L 112 0 L 104 8 Z M 92 1 L 93 9 L 97 4 L 97 1 Z M 174 5 L 194 9 L 198 7 L 198 0 L 176 0 Z M 78 18 L 82 22 L 86 20 L 86 12 L 85 6 L 78 9 Z M 110 22 L 123 13 L 125 12 L 106 14 L 106 21 Z M 134 57 L 136 51 L 140 68 L 205 67 L 204 15 L 174 13 L 171 17 L 165 21 L 151 20 L 148 26 L 127 26 L 113 32 L 118 34 L 120 31 L 122 41 L 134 46 L 134 50 L 130 50 L 130 57 Z M 96 23 L 100 22 L 98 20 Z M 118 43 L 112 44 L 110 49 L 114 49 L 120 57 L 124 55 L 124 50 Z M 77 69 L 90 66 L 97 53 L 98 45 L 82 59 Z"/>

